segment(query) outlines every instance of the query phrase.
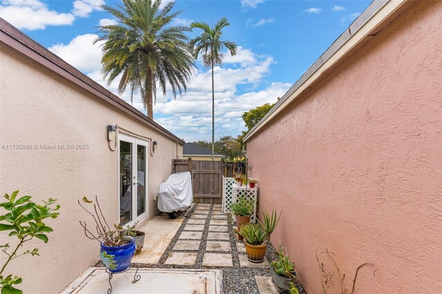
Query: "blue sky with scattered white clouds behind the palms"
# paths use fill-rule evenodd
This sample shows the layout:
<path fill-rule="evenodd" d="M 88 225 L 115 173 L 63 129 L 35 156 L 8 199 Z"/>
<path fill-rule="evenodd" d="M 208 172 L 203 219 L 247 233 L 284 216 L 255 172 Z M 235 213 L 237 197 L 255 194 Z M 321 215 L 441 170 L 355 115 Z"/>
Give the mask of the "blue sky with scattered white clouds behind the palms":
<path fill-rule="evenodd" d="M 171 0 L 166 0 L 167 2 Z M 164 2 L 164 0 L 163 0 Z M 0 0 L 0 16 L 109 90 L 93 45 L 100 22 L 114 21 L 97 8 L 117 0 Z M 294 84 L 371 1 L 176 0 L 176 23 L 215 23 L 227 17 L 224 39 L 238 45 L 215 68 L 215 137 L 239 135 L 241 115 L 273 103 Z M 193 37 L 198 31 L 191 33 Z M 211 76 L 197 63 L 188 91 L 173 99 L 157 95 L 154 119 L 186 141 L 211 139 Z M 128 92 L 120 95 L 130 103 Z M 144 112 L 139 96 L 133 106 Z"/>

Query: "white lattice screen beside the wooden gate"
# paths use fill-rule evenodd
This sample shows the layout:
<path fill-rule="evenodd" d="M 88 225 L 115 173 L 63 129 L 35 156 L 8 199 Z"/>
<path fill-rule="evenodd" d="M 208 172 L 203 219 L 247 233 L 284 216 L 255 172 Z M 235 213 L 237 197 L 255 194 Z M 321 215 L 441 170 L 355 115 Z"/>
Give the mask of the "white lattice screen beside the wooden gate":
<path fill-rule="evenodd" d="M 258 201 L 258 188 L 247 188 L 236 186 L 236 180 L 233 177 L 223 177 L 222 181 L 223 210 L 224 213 L 230 213 L 229 204 L 236 202 L 238 197 L 245 196 L 247 199 L 255 200 L 255 212 L 251 216 L 251 222 L 256 222 L 256 202 Z"/>

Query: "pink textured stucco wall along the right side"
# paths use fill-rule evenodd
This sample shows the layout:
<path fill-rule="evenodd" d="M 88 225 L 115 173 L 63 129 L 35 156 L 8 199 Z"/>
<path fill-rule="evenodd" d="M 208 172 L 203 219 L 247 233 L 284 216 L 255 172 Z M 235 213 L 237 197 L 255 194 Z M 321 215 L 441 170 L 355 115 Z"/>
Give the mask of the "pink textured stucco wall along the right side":
<path fill-rule="evenodd" d="M 442 1 L 418 1 L 247 141 L 260 210 L 283 210 L 299 280 L 315 251 L 356 293 L 442 293 Z M 329 293 L 340 293 L 336 266 Z"/>

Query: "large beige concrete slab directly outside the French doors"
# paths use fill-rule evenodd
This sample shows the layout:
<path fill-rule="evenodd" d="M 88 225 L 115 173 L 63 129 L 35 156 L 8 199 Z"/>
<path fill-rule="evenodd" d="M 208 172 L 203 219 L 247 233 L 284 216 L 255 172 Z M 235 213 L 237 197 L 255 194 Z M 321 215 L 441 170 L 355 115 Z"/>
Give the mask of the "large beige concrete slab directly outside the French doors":
<path fill-rule="evenodd" d="M 171 219 L 164 215 L 153 217 L 147 224 L 138 229 L 144 232 L 144 248 L 133 257 L 132 262 L 140 264 L 157 264 L 166 252 L 167 246 L 180 228 L 184 217 L 180 215 Z"/>

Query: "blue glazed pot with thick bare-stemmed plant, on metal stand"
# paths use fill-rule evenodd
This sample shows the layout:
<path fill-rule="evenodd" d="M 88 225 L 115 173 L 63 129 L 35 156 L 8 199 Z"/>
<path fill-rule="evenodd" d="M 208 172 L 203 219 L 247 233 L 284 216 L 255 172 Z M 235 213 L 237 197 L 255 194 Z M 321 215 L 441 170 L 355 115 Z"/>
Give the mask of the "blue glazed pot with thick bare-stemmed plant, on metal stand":
<path fill-rule="evenodd" d="M 93 212 L 90 212 L 78 201 L 78 204 L 93 217 L 95 221 L 95 230 L 92 233 L 86 226 L 86 222 L 80 222 L 84 228 L 84 234 L 89 239 L 98 240 L 100 242 L 100 257 L 106 268 L 111 273 L 119 273 L 126 271 L 131 266 L 131 260 L 135 253 L 135 238 L 131 237 L 131 228 L 124 228 L 122 224 L 114 224 L 114 228 L 106 222 L 99 206 L 98 198 L 95 196 L 95 203 L 83 197 L 83 202 L 93 204 Z"/>

